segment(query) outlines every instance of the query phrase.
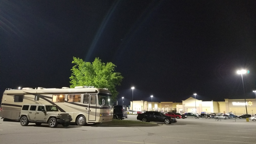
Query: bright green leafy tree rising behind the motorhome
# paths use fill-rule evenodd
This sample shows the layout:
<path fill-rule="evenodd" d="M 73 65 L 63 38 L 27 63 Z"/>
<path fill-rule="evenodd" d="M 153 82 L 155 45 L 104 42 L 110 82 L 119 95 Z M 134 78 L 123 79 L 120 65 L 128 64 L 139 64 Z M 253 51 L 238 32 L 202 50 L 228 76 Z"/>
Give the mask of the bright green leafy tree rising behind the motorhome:
<path fill-rule="evenodd" d="M 115 67 L 112 62 L 107 64 L 102 63 L 99 58 L 90 62 L 85 62 L 82 59 L 73 57 L 72 63 L 75 66 L 71 69 L 70 87 L 75 86 L 94 86 L 97 88 L 108 88 L 112 93 L 112 98 L 116 100 L 118 92 L 116 85 L 120 85 L 122 79 L 121 73 L 115 72 Z"/>

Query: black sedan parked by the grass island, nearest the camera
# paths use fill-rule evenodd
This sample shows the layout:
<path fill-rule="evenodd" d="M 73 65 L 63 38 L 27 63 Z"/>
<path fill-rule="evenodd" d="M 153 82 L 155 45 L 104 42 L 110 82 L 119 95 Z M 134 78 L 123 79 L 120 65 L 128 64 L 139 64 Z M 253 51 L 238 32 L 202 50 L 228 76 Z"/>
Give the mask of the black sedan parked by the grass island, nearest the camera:
<path fill-rule="evenodd" d="M 164 122 L 165 124 L 177 123 L 177 119 L 171 116 L 165 116 L 158 111 L 147 111 L 142 114 L 138 114 L 137 120 L 142 122 Z"/>

